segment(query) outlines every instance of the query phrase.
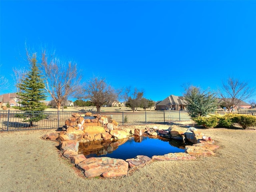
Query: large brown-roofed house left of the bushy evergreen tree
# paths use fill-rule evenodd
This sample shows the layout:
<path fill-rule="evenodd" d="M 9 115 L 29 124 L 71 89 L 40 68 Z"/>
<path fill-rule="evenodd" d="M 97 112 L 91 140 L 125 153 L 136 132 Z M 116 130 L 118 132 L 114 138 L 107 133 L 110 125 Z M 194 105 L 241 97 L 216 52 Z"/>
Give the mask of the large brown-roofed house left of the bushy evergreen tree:
<path fill-rule="evenodd" d="M 187 104 L 183 96 L 170 95 L 156 102 L 156 110 L 186 110 Z"/>

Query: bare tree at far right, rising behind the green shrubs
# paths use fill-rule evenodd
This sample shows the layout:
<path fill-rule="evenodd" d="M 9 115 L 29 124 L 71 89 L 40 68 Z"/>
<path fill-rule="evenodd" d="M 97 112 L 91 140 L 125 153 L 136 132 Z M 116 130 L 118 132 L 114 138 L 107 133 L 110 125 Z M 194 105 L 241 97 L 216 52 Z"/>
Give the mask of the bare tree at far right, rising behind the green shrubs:
<path fill-rule="evenodd" d="M 239 81 L 229 77 L 227 82 L 222 81 L 222 88 L 218 90 L 221 105 L 225 106 L 229 112 L 244 101 L 255 95 L 255 88 L 251 88 L 248 82 Z"/>

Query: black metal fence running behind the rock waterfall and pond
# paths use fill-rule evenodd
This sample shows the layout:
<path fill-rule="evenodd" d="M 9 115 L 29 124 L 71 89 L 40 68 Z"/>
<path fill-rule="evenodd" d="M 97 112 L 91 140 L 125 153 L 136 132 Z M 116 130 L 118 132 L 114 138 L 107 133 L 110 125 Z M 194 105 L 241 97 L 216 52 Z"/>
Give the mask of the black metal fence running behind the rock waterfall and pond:
<path fill-rule="evenodd" d="M 35 113 L 35 112 L 31 112 Z M 65 125 L 65 121 L 72 116 L 73 113 L 78 113 L 84 116 L 86 111 L 79 112 L 56 112 L 44 111 L 40 112 L 44 118 L 38 122 L 33 122 L 30 126 L 29 122 L 24 122 L 23 111 L 0 111 L 0 131 L 15 131 L 15 130 L 34 130 L 34 129 L 58 129 Z M 164 123 L 174 121 L 190 120 L 190 116 L 186 111 L 154 111 L 154 112 L 92 112 L 93 114 L 101 114 L 112 118 L 119 125 L 135 125 L 148 123 Z M 29 115 L 26 112 L 26 115 Z"/>

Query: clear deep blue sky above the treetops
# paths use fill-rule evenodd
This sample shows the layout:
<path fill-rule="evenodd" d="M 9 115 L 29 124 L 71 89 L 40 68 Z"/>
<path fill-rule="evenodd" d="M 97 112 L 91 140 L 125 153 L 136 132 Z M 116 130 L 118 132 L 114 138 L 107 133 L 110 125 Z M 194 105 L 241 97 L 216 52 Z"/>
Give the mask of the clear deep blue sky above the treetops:
<path fill-rule="evenodd" d="M 0 12 L 0 74 L 11 82 L 26 42 L 76 61 L 83 81 L 101 76 L 154 101 L 228 76 L 256 86 L 256 1 L 1 0 Z"/>

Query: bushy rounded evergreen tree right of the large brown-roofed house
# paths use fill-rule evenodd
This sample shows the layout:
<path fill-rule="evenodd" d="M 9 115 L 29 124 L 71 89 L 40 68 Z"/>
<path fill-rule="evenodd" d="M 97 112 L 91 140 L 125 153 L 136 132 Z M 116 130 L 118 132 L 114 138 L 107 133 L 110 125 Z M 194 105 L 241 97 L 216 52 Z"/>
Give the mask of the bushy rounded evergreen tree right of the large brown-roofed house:
<path fill-rule="evenodd" d="M 190 86 L 185 90 L 184 97 L 188 103 L 188 114 L 192 118 L 206 116 L 211 112 L 215 112 L 217 108 L 214 94 L 202 91 L 198 87 Z"/>

